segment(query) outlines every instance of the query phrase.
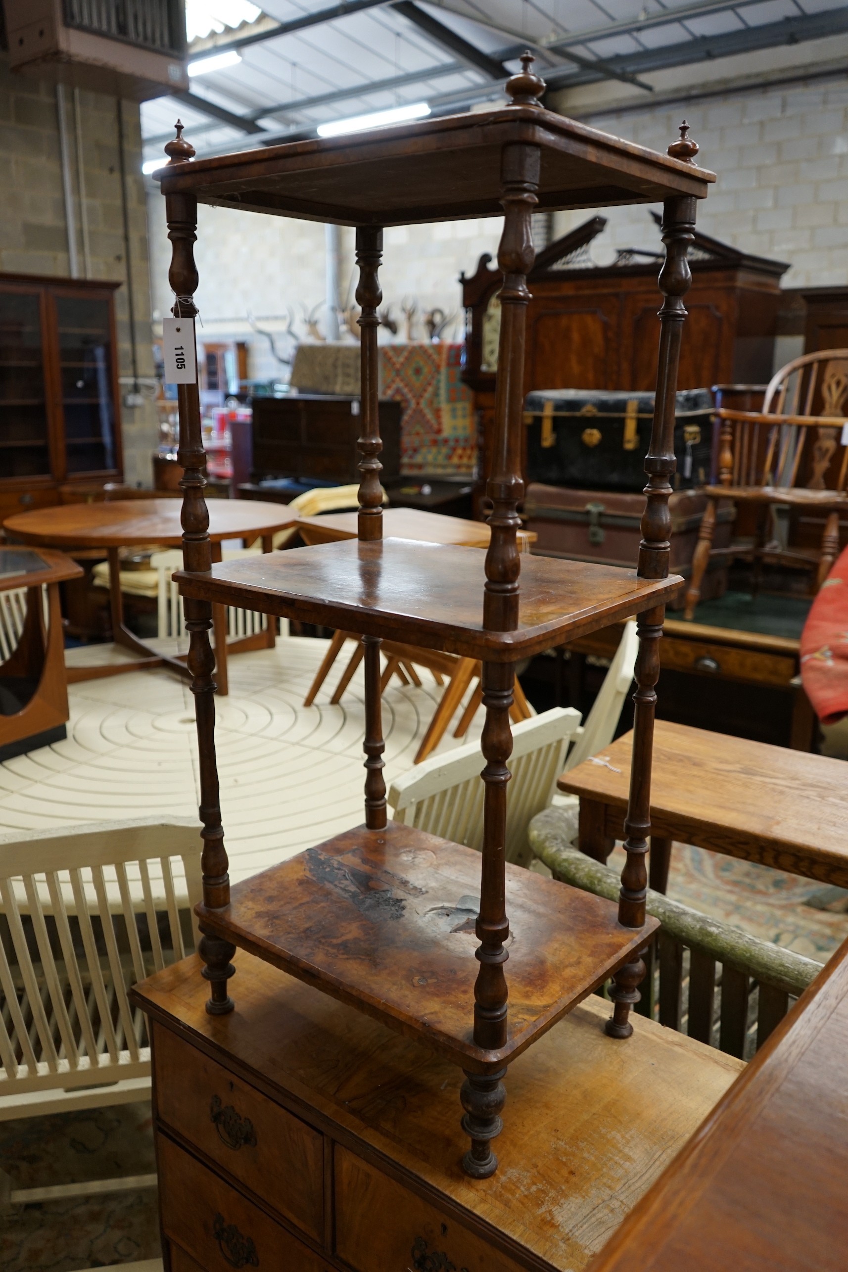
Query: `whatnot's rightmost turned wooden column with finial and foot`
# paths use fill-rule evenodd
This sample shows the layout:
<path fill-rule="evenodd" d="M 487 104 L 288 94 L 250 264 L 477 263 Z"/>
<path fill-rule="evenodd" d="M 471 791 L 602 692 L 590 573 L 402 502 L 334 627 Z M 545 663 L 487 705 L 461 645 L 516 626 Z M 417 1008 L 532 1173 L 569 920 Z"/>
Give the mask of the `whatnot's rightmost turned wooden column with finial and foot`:
<path fill-rule="evenodd" d="M 688 132 L 689 128 L 684 121 L 680 126 L 680 140 L 669 146 L 669 154 L 684 163 L 694 163 L 698 146 L 689 139 Z M 641 579 L 665 579 L 669 575 L 671 550 L 669 496 L 671 495 L 671 477 L 676 467 L 674 421 L 678 364 L 683 322 L 687 317 L 683 298 L 692 282 L 687 251 L 694 238 L 694 197 L 678 196 L 666 200 L 662 209 L 662 242 L 666 254 L 659 280 L 664 301 L 660 309 L 656 401 L 651 444 L 645 458 L 648 483 L 645 487 L 646 506 L 642 516 L 642 542 L 639 543 L 638 575 Z M 633 763 L 627 817 L 624 818 L 627 861 L 622 871 L 622 889 L 618 902 L 618 920 L 624 927 L 642 927 L 645 925 L 645 899 L 648 883 L 646 856 L 651 832 L 651 756 L 664 619 L 664 605 L 648 609 L 637 618 L 639 653 L 636 660 L 637 688 L 633 695 Z M 637 986 L 643 976 L 645 963 L 641 958 L 626 964 L 615 976 L 614 988 L 610 991 L 615 1007 L 613 1018 L 606 1021 L 606 1033 L 613 1038 L 627 1038 L 633 1032 L 628 1018 L 633 1004 L 639 1001 Z"/>

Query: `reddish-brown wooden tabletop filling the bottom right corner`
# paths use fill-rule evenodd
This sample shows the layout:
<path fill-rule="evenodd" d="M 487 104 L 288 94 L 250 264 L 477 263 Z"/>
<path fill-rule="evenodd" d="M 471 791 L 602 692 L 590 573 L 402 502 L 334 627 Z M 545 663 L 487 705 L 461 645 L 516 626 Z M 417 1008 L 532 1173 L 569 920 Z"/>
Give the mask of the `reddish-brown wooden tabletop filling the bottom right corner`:
<path fill-rule="evenodd" d="M 591 1264 L 844 1272 L 848 943 Z"/>

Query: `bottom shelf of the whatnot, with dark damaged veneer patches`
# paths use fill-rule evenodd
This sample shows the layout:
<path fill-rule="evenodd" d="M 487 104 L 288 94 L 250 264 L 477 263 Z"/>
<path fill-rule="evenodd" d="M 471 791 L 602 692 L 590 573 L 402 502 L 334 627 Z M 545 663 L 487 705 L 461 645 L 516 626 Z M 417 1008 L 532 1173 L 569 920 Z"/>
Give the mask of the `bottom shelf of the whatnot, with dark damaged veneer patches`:
<path fill-rule="evenodd" d="M 493 1074 L 626 964 L 657 923 L 629 929 L 609 901 L 506 866 L 509 1037 L 473 1040 L 481 855 L 414 827 L 360 826 L 254 875 L 203 929 Z M 231 985 L 238 1006 L 238 976 Z"/>

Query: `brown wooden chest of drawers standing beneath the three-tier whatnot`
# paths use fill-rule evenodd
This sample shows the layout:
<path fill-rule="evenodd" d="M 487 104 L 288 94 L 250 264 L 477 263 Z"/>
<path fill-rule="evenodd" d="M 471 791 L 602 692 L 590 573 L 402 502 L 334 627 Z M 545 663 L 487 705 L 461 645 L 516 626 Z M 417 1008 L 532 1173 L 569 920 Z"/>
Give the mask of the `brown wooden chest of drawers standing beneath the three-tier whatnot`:
<path fill-rule="evenodd" d="M 510 1066 L 502 1166 L 473 1180 L 455 1065 L 236 962 L 230 1015 L 206 1013 L 197 958 L 132 991 L 154 1021 L 172 1272 L 252 1267 L 247 1243 L 266 1272 L 576 1272 L 742 1070 L 642 1016 L 613 1042 L 587 999 Z"/>

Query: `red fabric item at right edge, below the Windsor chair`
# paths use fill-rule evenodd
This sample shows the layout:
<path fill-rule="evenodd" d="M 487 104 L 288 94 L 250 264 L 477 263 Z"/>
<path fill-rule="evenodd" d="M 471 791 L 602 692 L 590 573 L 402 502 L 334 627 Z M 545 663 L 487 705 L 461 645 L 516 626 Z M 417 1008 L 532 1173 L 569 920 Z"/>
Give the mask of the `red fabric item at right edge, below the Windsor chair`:
<path fill-rule="evenodd" d="M 801 682 L 821 724 L 848 715 L 848 548 L 837 558 L 804 625 Z"/>

